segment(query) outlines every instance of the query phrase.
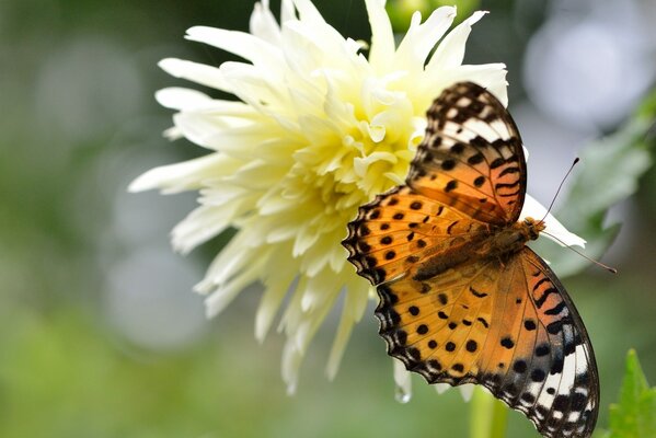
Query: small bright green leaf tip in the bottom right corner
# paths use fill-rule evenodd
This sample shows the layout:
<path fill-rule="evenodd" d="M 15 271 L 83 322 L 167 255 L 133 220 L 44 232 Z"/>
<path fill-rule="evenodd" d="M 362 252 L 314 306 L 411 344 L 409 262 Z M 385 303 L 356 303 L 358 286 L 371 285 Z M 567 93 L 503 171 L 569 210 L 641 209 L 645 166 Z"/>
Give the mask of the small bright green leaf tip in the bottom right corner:
<path fill-rule="evenodd" d="M 649 388 L 635 350 L 626 355 L 620 403 L 610 406 L 607 438 L 656 437 L 656 388 Z"/>

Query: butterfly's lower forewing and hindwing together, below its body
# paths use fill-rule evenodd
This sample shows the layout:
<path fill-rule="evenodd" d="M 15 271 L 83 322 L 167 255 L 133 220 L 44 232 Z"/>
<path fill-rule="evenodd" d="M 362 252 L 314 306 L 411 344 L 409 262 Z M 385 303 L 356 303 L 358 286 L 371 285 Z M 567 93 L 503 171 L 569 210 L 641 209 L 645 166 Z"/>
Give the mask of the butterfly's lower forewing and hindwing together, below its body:
<path fill-rule="evenodd" d="M 477 383 L 545 437 L 589 437 L 599 405 L 592 347 L 553 272 L 530 249 L 378 287 L 388 353 L 430 383 Z"/>

